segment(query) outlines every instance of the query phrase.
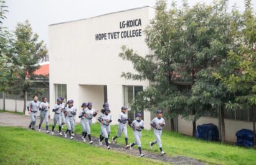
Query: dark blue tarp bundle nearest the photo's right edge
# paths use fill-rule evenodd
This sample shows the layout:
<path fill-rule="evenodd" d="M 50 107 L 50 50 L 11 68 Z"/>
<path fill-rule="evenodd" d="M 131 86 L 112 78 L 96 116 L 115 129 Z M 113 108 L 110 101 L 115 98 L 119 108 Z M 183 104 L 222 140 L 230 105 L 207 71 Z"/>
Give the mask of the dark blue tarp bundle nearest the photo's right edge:
<path fill-rule="evenodd" d="M 239 130 L 237 133 L 235 133 L 235 136 L 237 136 L 237 143 L 235 143 L 236 145 L 245 147 L 254 146 L 254 132 L 251 130 Z"/>

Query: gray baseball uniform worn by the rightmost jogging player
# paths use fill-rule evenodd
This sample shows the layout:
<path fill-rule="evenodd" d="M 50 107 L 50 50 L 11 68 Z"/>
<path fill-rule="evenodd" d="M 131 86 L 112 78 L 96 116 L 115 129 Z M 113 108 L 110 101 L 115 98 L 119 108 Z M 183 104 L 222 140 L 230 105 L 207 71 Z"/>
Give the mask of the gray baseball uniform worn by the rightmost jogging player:
<path fill-rule="evenodd" d="M 158 143 L 159 148 L 161 148 L 162 147 L 161 135 L 162 135 L 163 126 L 159 124 L 162 123 L 163 125 L 165 125 L 164 118 L 155 117 L 150 123 L 151 125 L 156 125 L 156 128 L 154 128 L 154 136 L 156 137 L 156 139 L 153 141 L 153 143 L 154 144 Z"/>

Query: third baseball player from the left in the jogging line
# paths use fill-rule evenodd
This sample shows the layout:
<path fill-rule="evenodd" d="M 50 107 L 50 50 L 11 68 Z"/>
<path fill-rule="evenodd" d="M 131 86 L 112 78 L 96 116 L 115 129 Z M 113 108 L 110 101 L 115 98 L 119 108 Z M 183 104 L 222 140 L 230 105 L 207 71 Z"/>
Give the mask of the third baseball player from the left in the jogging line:
<path fill-rule="evenodd" d="M 57 99 L 57 104 L 54 105 L 52 108 L 52 112 L 54 112 L 54 125 L 52 125 L 52 135 L 54 135 L 54 128 L 57 124 L 57 121 L 59 121 L 59 135 L 61 136 L 61 128 L 62 128 L 62 117 L 61 117 L 61 110 L 62 110 L 62 105 L 60 105 L 61 100 Z"/>

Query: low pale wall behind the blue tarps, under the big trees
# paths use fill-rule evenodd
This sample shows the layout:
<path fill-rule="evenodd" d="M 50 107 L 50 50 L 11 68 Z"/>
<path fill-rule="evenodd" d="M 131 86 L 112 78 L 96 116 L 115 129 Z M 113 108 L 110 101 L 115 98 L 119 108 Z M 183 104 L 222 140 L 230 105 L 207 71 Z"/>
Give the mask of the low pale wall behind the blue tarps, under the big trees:
<path fill-rule="evenodd" d="M 218 118 L 211 117 L 201 117 L 196 121 L 196 125 L 202 125 L 204 123 L 213 123 L 217 126 L 219 130 L 219 120 Z M 252 122 L 242 122 L 238 120 L 228 120 L 225 119 L 225 141 L 236 141 L 235 133 L 243 128 L 252 130 Z M 192 122 L 185 120 L 184 118 L 178 117 L 178 130 L 180 133 L 186 135 L 192 135 Z M 219 130 L 220 134 L 220 130 Z"/>

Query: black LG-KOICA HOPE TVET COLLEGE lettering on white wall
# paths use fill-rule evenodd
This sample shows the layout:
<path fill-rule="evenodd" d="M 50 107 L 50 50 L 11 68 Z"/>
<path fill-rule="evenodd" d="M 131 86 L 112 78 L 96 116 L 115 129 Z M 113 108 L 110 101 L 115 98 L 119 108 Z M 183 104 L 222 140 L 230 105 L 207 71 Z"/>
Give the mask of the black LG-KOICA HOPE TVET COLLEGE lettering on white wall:
<path fill-rule="evenodd" d="M 141 27 L 141 19 L 124 20 L 119 22 L 120 29 L 128 29 L 137 27 L 136 29 L 121 30 L 119 32 L 107 32 L 107 33 L 97 33 L 95 34 L 95 40 L 113 40 L 118 38 L 131 38 L 131 37 L 141 37 L 142 30 L 138 29 Z"/>

